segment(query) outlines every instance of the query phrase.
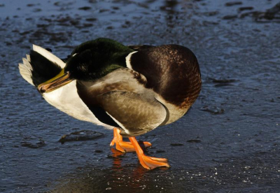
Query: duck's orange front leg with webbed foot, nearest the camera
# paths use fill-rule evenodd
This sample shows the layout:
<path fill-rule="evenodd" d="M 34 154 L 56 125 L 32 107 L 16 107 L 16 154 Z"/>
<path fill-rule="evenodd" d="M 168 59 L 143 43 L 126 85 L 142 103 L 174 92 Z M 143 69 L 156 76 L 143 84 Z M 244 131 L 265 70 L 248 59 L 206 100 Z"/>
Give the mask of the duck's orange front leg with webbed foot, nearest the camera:
<path fill-rule="evenodd" d="M 139 158 L 140 164 L 144 166 L 144 168 L 155 169 L 161 166 L 170 167 L 169 164 L 167 163 L 167 159 L 165 158 L 148 157 L 144 155 L 144 152 L 141 149 L 135 137 L 130 137 L 129 139 L 137 152 L 137 156 Z"/>

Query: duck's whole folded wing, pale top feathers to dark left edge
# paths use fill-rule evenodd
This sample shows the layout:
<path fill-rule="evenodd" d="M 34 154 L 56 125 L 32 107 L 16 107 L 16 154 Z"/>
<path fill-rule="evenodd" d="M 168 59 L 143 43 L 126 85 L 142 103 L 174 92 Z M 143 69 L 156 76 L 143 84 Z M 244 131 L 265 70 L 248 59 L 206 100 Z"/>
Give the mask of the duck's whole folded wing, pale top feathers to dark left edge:
<path fill-rule="evenodd" d="M 77 83 L 77 88 L 100 121 L 122 128 L 123 136 L 137 136 L 164 124 L 169 115 L 145 84 L 143 75 L 120 68 L 95 82 Z"/>

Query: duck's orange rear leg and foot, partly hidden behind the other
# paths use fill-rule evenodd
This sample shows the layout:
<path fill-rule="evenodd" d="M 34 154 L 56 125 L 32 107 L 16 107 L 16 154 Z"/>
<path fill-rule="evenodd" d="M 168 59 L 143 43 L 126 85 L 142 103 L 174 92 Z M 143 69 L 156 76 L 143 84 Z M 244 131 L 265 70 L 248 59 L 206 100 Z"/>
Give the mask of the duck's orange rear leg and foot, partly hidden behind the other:
<path fill-rule="evenodd" d="M 113 140 L 110 143 L 110 146 L 115 145 L 116 149 L 120 152 L 135 152 L 134 145 L 130 142 L 123 141 L 123 136 L 120 135 L 120 129 L 114 128 L 113 129 Z M 149 142 L 144 142 L 145 148 L 150 147 L 152 144 Z"/>

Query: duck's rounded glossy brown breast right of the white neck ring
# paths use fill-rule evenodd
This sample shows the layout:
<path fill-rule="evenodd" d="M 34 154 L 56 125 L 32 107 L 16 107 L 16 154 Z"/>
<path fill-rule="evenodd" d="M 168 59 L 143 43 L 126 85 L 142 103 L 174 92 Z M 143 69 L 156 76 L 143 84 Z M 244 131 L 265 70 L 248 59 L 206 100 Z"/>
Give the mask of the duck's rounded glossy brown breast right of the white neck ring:
<path fill-rule="evenodd" d="M 161 45 L 134 52 L 129 60 L 131 68 L 146 77 L 146 87 L 169 109 L 167 123 L 179 119 L 197 99 L 202 86 L 200 67 L 188 48 Z"/>

